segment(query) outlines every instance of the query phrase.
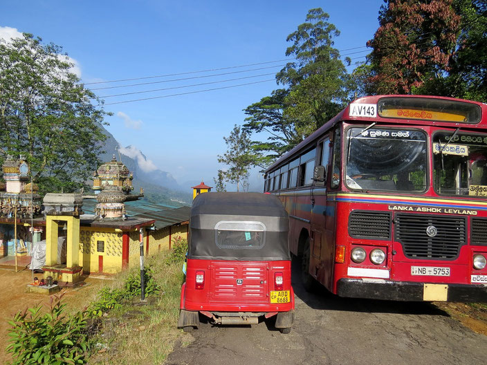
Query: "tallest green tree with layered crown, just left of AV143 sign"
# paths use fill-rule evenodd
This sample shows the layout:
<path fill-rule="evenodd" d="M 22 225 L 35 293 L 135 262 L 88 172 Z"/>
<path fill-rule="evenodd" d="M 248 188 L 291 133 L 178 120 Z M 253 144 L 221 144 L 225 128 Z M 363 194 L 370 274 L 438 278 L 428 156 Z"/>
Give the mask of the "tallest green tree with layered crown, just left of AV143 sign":
<path fill-rule="evenodd" d="M 285 113 L 293 120 L 311 123 L 309 133 L 333 118 L 349 101 L 351 80 L 340 52 L 333 48 L 333 38 L 340 31 L 328 19 L 321 8 L 309 10 L 306 21 L 286 39 L 293 42 L 286 56 L 296 61 L 277 74 L 277 82 L 289 86 Z"/>

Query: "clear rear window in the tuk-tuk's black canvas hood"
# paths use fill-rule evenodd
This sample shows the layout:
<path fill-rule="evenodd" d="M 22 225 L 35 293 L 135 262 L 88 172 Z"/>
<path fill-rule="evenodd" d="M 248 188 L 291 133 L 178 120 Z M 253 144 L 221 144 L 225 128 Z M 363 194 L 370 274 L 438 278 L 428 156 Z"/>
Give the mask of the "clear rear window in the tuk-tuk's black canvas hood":
<path fill-rule="evenodd" d="M 259 250 L 266 244 L 266 225 L 257 221 L 220 221 L 215 225 L 219 248 Z"/>

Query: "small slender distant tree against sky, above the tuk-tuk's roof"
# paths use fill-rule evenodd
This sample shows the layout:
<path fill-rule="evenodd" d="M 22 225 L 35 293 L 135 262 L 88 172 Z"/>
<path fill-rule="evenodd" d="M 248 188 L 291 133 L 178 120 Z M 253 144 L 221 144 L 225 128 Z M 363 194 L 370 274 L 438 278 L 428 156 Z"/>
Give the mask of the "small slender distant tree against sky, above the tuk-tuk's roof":
<path fill-rule="evenodd" d="M 250 149 L 250 138 L 246 131 L 235 125 L 228 137 L 223 137 L 227 145 L 226 153 L 218 156 L 218 162 L 228 165 L 227 171 L 219 170 L 223 179 L 237 185 L 237 191 L 242 187 L 248 190 L 249 169 L 255 165 L 255 156 Z"/>

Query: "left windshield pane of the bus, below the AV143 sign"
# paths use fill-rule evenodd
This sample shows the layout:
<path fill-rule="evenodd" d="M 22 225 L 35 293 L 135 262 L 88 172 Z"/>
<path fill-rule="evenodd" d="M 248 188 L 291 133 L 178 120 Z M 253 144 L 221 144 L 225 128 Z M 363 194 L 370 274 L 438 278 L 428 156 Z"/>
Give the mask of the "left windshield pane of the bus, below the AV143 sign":
<path fill-rule="evenodd" d="M 423 131 L 350 128 L 344 149 L 350 189 L 421 192 L 427 187 Z"/>

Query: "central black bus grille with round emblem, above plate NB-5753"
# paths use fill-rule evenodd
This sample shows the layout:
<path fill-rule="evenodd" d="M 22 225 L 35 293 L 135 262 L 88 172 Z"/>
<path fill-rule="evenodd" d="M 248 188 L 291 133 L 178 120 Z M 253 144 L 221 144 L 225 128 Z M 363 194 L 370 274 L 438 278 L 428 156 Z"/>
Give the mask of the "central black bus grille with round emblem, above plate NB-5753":
<path fill-rule="evenodd" d="M 396 241 L 410 259 L 454 259 L 467 241 L 466 218 L 398 213 L 394 219 Z M 437 234 L 428 236 L 428 227 Z"/>

